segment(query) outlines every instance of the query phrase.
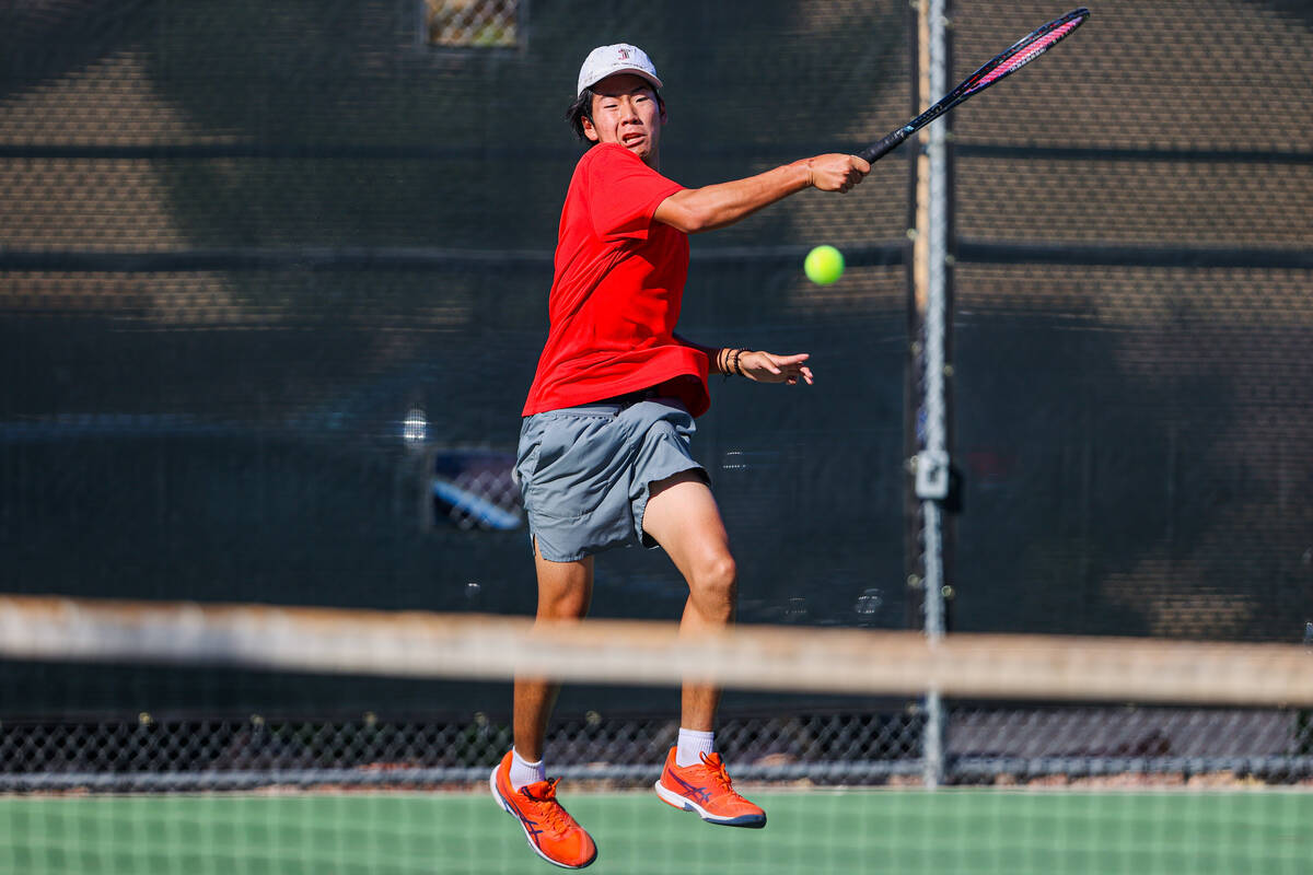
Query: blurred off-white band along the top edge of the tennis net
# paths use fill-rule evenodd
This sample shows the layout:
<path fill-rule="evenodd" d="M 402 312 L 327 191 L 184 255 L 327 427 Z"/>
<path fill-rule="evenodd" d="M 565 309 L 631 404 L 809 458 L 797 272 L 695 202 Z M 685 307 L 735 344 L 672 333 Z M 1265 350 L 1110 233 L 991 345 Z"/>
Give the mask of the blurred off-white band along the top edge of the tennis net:
<path fill-rule="evenodd" d="M 945 698 L 1313 704 L 1299 644 L 737 626 L 0 596 L 0 657 Z"/>

